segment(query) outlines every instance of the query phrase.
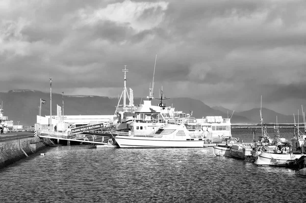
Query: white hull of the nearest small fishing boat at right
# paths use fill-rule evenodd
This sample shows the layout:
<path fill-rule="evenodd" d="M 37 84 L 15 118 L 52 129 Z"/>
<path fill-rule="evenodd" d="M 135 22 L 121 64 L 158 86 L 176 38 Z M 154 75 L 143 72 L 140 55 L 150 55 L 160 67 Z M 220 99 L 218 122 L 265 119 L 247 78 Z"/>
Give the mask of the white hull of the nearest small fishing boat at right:
<path fill-rule="evenodd" d="M 262 152 L 254 164 L 258 166 L 281 166 L 285 167 L 291 161 L 298 159 L 302 154 L 274 154 Z"/>

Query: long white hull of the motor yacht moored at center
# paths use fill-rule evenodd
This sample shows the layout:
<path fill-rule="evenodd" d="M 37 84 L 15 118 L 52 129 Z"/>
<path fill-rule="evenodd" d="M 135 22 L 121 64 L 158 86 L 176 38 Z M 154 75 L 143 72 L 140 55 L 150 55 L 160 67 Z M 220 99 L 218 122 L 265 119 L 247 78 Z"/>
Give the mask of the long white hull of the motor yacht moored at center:
<path fill-rule="evenodd" d="M 202 148 L 204 140 L 194 139 L 161 139 L 156 137 L 116 136 L 120 148 Z"/>

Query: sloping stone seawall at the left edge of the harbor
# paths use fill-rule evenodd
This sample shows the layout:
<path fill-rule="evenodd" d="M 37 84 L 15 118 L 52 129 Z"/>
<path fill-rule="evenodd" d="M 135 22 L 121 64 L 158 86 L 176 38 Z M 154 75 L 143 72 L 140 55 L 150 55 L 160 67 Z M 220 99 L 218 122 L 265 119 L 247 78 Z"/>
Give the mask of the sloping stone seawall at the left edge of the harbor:
<path fill-rule="evenodd" d="M 45 149 L 48 144 L 52 144 L 49 139 L 41 139 L 39 137 L 0 142 L 0 168 L 35 154 Z"/>

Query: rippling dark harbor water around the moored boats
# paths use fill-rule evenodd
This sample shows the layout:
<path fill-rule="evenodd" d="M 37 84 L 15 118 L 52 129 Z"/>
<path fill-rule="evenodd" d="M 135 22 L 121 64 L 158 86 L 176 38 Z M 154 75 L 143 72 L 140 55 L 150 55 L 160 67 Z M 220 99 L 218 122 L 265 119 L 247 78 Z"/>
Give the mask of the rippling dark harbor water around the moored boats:
<path fill-rule="evenodd" d="M 286 130 L 291 138 L 293 129 Z M 249 131 L 232 132 L 251 141 Z M 306 179 L 295 171 L 216 157 L 212 148 L 44 152 L 0 169 L 0 202 L 303 202 L 306 196 Z"/>

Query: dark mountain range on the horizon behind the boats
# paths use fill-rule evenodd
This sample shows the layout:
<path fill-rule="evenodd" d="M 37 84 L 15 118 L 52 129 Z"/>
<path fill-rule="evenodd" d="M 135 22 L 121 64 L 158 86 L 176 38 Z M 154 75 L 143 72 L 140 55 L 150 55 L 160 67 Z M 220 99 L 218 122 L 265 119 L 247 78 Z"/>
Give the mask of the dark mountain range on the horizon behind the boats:
<path fill-rule="evenodd" d="M 50 114 L 50 93 L 44 93 L 36 90 L 11 90 L 0 92 L 0 101 L 3 101 L 4 116 L 14 121 L 14 125 L 31 126 L 36 123 L 36 115 L 39 114 L 40 99 L 46 101 L 41 104 L 41 115 Z M 134 98 L 134 104 L 143 103 L 143 98 Z M 158 99 L 152 100 L 153 105 L 157 105 Z M 121 101 L 122 103 L 122 101 Z M 127 102 L 128 103 L 128 102 Z M 201 119 L 208 115 L 221 115 L 227 118 L 233 110 L 222 106 L 210 107 L 200 100 L 191 98 L 171 98 L 164 100 L 166 106 L 173 106 L 175 110 L 183 112 L 193 111 L 193 117 Z M 52 93 L 52 115 L 57 114 L 57 104 L 63 105 L 63 95 Z M 103 96 L 85 96 L 85 95 L 64 95 L 64 114 L 65 115 L 101 115 L 114 114 L 118 98 Z M 275 123 L 276 116 L 278 123 L 293 123 L 293 115 L 284 115 L 273 110 L 262 108 L 262 117 L 264 123 Z M 260 109 L 253 108 L 247 111 L 235 111 L 231 117 L 232 124 L 259 124 Z M 299 121 L 302 121 L 300 116 Z M 297 121 L 297 118 L 296 118 Z"/>

